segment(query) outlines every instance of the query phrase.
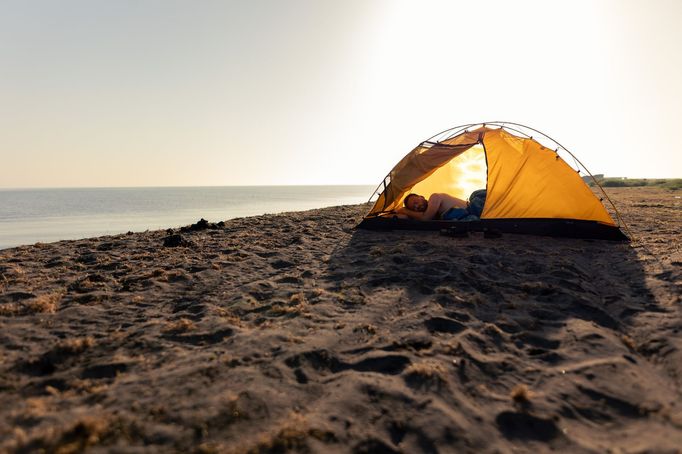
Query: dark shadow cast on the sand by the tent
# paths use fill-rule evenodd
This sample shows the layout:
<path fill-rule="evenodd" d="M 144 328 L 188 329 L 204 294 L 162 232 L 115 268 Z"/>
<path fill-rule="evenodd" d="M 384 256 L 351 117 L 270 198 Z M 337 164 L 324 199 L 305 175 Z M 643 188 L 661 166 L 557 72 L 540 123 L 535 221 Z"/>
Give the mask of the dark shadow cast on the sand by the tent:
<path fill-rule="evenodd" d="M 465 311 L 509 333 L 566 319 L 625 332 L 633 315 L 660 310 L 630 245 L 599 240 L 358 230 L 327 277 L 367 294 L 402 289 L 415 304 Z"/>

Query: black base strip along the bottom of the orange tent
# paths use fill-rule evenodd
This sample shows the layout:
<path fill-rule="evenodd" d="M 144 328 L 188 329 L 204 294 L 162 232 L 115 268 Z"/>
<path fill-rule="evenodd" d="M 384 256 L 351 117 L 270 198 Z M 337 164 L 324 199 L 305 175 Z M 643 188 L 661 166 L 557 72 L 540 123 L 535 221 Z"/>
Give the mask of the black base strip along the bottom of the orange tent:
<path fill-rule="evenodd" d="M 615 226 L 575 219 L 481 219 L 479 221 L 414 221 L 388 217 L 365 218 L 357 228 L 368 230 L 444 230 L 451 235 L 465 232 L 502 232 L 529 235 L 630 241 Z"/>

